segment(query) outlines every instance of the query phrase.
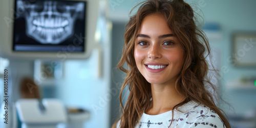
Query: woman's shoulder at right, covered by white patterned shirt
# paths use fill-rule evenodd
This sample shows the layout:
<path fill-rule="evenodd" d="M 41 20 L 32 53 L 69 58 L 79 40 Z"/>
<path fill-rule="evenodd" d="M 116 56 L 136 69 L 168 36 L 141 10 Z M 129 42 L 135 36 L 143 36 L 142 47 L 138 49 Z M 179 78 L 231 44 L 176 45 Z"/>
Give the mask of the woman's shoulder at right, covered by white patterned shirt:
<path fill-rule="evenodd" d="M 190 101 L 177 110 L 173 120 L 177 127 L 225 127 L 215 111 L 196 101 Z"/>

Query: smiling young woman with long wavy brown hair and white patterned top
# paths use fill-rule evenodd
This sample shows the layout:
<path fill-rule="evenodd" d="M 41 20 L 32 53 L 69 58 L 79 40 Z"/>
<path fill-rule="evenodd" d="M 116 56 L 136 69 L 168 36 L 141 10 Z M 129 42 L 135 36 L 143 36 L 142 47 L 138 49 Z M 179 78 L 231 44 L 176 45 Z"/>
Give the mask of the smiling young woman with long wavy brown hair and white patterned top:
<path fill-rule="evenodd" d="M 230 127 L 208 85 L 208 40 L 182 0 L 145 1 L 126 25 L 118 68 L 126 73 L 114 127 Z M 124 68 L 124 64 L 127 68 Z M 207 86 L 207 88 L 206 88 Z"/>

